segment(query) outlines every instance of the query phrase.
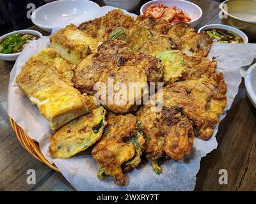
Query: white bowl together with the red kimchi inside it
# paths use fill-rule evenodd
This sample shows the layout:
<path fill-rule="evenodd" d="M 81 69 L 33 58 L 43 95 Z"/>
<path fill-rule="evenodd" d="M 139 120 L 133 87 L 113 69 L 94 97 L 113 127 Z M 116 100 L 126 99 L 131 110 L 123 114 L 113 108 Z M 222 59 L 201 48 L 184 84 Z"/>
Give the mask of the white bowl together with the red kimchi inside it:
<path fill-rule="evenodd" d="M 192 27 L 200 23 L 202 9 L 194 3 L 184 0 L 156 0 L 143 4 L 141 15 L 153 18 L 162 18 L 170 24 L 186 22 Z"/>

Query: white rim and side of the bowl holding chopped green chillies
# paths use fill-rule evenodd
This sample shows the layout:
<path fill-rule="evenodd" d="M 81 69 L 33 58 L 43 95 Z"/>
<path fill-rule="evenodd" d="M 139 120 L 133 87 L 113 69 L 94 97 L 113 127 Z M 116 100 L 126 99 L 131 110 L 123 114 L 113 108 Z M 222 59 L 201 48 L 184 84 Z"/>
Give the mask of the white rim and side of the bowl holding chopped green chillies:
<path fill-rule="evenodd" d="M 40 38 L 42 38 L 42 34 L 38 31 L 33 31 L 33 30 L 20 30 L 20 31 L 13 31 L 11 33 L 7 33 L 4 34 L 3 36 L 0 37 L 0 42 L 3 41 L 5 38 L 7 38 L 8 36 L 12 35 L 12 34 L 35 34 L 36 36 L 39 36 Z M 0 59 L 3 59 L 5 61 L 15 61 L 17 59 L 17 57 L 19 57 L 21 52 L 17 52 L 15 54 L 3 54 L 0 53 Z"/>

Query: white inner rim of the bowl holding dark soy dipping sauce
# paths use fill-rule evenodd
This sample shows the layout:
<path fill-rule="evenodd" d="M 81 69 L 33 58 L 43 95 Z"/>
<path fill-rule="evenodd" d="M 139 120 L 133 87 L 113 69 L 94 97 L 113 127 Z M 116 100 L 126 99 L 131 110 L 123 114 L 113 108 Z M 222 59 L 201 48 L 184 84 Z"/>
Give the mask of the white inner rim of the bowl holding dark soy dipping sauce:
<path fill-rule="evenodd" d="M 232 26 L 229 26 L 229 25 L 222 25 L 222 24 L 205 25 L 205 26 L 201 27 L 198 30 L 198 33 L 201 33 L 202 31 L 205 31 L 205 30 L 208 30 L 208 29 L 213 29 L 213 28 L 215 28 L 215 29 L 224 29 L 224 30 L 236 33 L 237 35 L 241 36 L 244 43 L 248 43 L 248 37 L 246 36 L 246 34 L 243 31 L 240 31 L 236 27 L 232 27 Z"/>

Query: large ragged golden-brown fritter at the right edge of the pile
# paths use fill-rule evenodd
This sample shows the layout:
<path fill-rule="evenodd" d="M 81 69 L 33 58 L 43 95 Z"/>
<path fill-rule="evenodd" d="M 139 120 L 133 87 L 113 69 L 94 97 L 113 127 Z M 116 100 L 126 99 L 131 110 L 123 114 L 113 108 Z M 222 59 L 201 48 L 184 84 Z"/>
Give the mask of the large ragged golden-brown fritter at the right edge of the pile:
<path fill-rule="evenodd" d="M 163 88 L 163 105 L 183 108 L 184 115 L 195 124 L 196 135 L 208 140 L 227 104 L 226 92 L 222 73 L 201 80 L 175 82 Z"/>

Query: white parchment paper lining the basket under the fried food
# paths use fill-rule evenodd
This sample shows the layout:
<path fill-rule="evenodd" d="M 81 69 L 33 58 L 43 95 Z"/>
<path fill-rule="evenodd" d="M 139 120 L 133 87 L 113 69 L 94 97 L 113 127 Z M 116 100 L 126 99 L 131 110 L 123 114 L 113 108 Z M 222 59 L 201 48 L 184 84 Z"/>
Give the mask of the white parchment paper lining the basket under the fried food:
<path fill-rule="evenodd" d="M 90 150 L 70 159 L 51 158 L 49 142 L 52 131 L 47 121 L 40 115 L 38 108 L 31 104 L 15 82 L 15 77 L 19 75 L 22 66 L 28 61 L 29 57 L 40 52 L 42 48 L 49 46 L 49 44 L 49 37 L 31 41 L 15 62 L 10 75 L 8 114 L 20 128 L 24 129 L 30 138 L 38 141 L 44 156 L 56 164 L 68 182 L 79 191 L 193 191 L 196 174 L 200 168 L 200 160 L 217 148 L 216 133 L 218 126 L 214 129 L 214 134 L 210 140 L 204 141 L 195 138 L 193 150 L 185 158 L 186 163 L 183 159 L 179 162 L 166 161 L 166 163 L 162 164 L 163 173 L 157 175 L 150 164 L 144 161 L 138 168 L 127 173 L 129 182 L 127 186 L 123 187 L 116 186 L 112 177 L 101 181 L 97 179 L 97 164 L 90 154 Z M 255 56 L 255 44 L 233 45 L 216 43 L 212 45 L 209 59 L 216 57 L 218 62 L 217 71 L 224 73 L 227 84 L 228 103 L 225 113 L 220 115 L 221 120 L 232 105 L 241 83 L 239 68 L 250 65 Z"/>

